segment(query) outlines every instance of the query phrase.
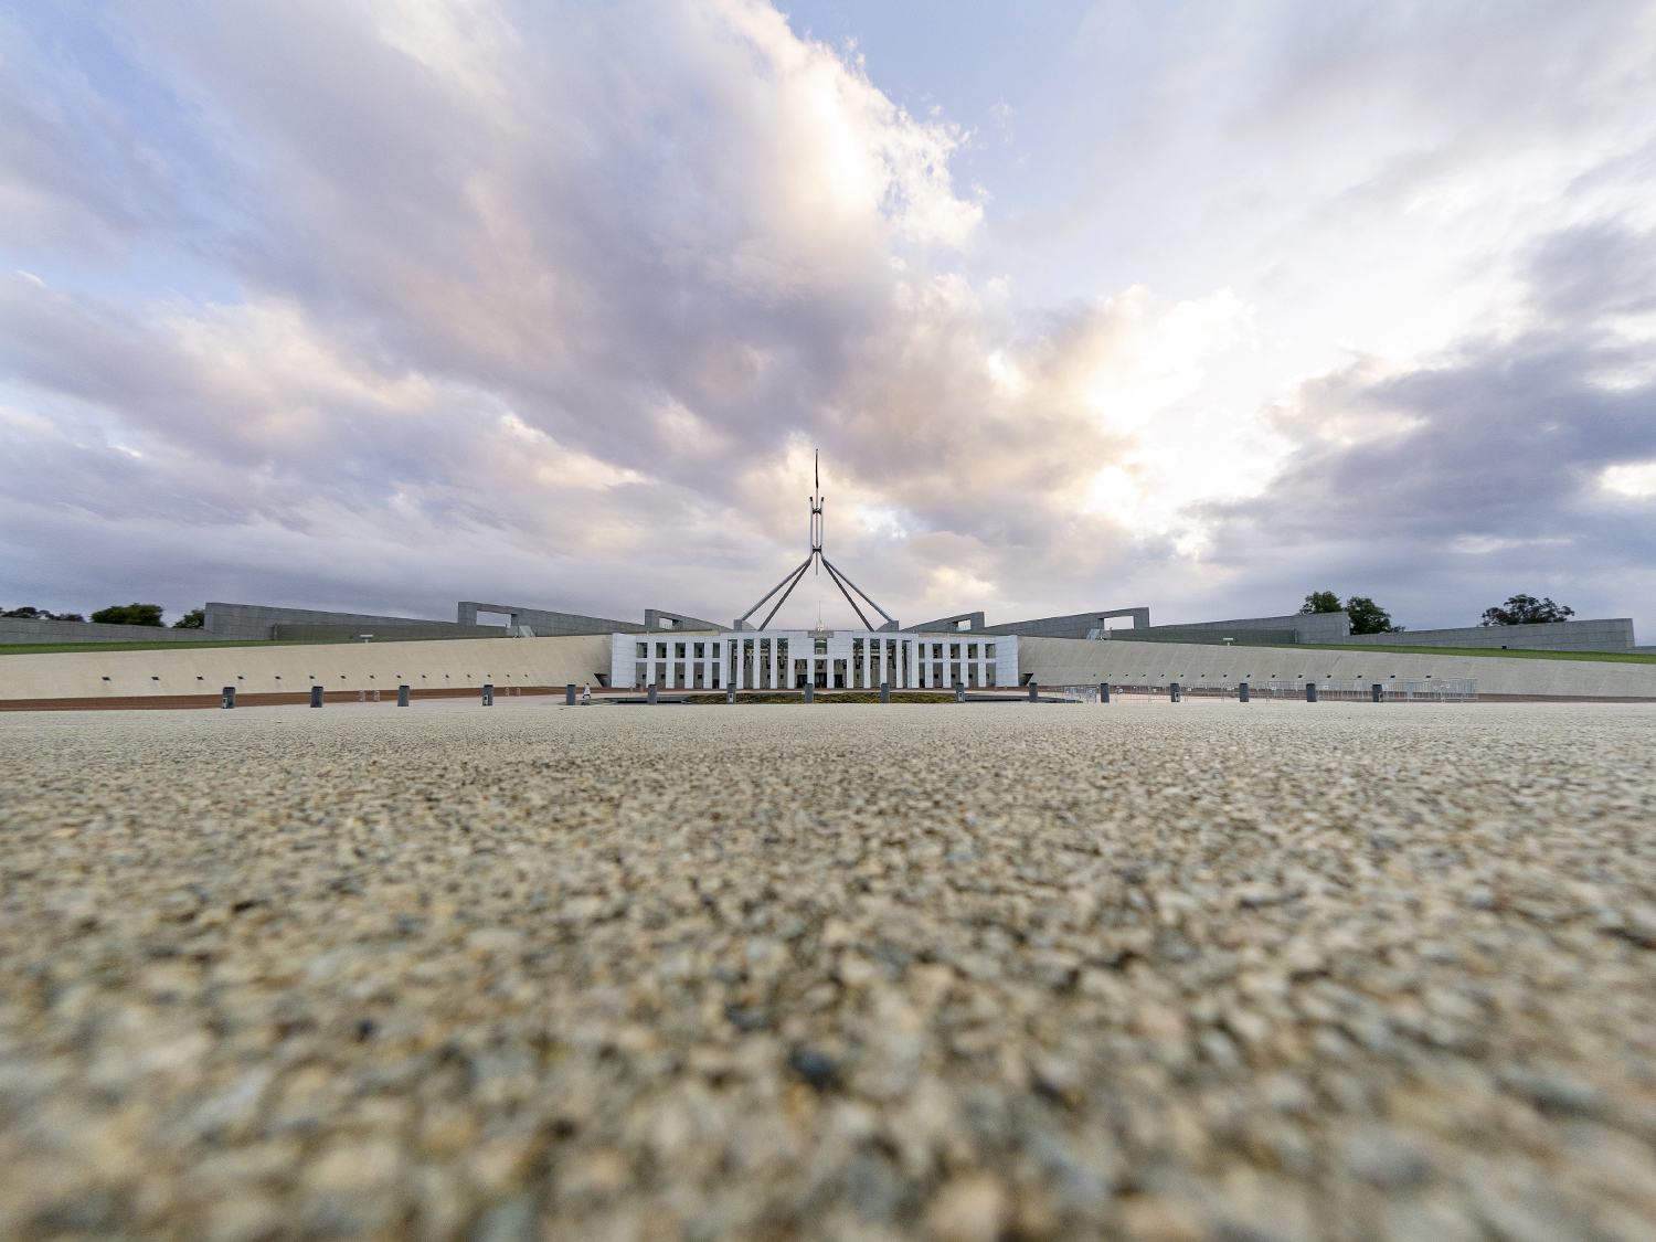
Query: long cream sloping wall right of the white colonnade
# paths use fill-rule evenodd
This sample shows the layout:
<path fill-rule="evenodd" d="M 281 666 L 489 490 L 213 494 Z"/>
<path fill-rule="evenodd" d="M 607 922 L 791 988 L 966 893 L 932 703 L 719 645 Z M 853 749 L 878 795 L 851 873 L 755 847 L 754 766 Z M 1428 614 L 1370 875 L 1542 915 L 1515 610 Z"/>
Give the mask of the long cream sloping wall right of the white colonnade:
<path fill-rule="evenodd" d="M 13 656 L 12 659 L 22 659 Z M 1101 681 L 1234 686 L 1239 681 L 1297 677 L 1477 677 L 1479 694 L 1562 694 L 1656 697 L 1656 664 L 1499 656 L 1421 656 L 1389 651 L 1297 651 L 1174 643 L 1085 643 L 1060 638 L 1018 641 L 1018 672 L 1042 686 L 1096 686 Z"/>

